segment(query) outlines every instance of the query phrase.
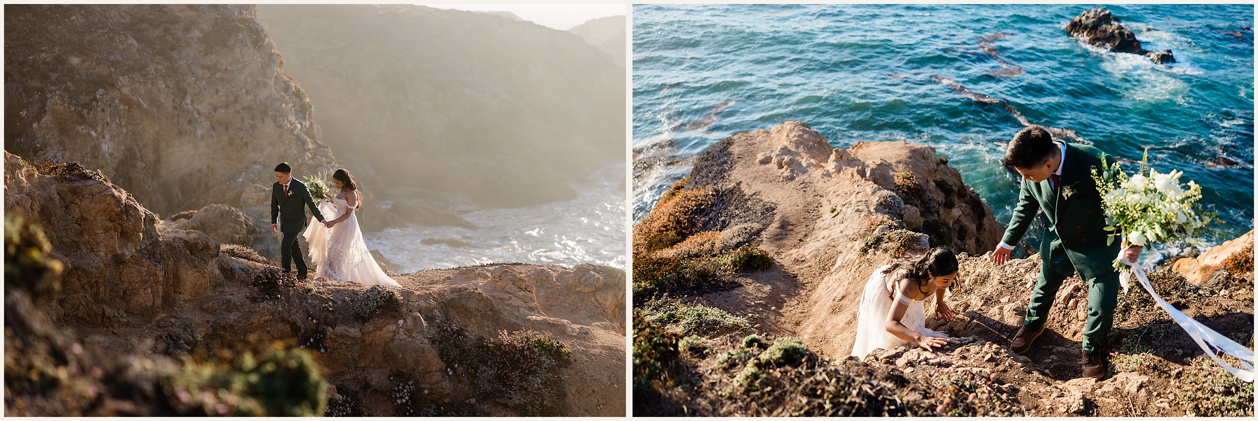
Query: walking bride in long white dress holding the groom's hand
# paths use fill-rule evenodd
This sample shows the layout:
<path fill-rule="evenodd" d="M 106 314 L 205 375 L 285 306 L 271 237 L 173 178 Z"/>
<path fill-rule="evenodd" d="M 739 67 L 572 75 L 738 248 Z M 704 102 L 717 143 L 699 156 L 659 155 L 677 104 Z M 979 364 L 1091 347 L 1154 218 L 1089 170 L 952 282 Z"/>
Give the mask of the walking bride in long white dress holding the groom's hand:
<path fill-rule="evenodd" d="M 332 173 L 332 183 L 341 189 L 341 192 L 331 201 L 320 202 L 320 211 L 323 215 L 336 215 L 336 219 L 322 224 L 312 221 L 306 232 L 302 232 L 309 244 L 311 260 L 317 268 L 314 276 L 366 285 L 401 287 L 380 270 L 380 265 L 367 250 L 367 244 L 362 241 L 359 217 L 353 215 L 355 210 L 362 207 L 362 197 L 353 177 L 345 168 L 340 168 Z"/>

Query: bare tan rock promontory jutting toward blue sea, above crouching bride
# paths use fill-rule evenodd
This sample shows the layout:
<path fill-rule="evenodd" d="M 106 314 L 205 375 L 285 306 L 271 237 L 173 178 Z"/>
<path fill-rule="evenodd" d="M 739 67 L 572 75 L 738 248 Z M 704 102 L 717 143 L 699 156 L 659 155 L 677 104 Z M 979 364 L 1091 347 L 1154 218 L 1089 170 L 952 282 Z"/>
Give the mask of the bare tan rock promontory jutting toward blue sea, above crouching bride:
<path fill-rule="evenodd" d="M 717 197 L 752 197 L 745 202 L 764 201 L 774 209 L 771 215 L 740 217 L 735 215 L 747 212 L 738 207 L 757 206 L 718 199 L 713 207 L 725 209 L 713 222 L 726 220 L 728 236 L 747 231 L 747 225 L 759 232 L 759 246 L 798 278 L 795 293 L 806 297 L 784 309 L 800 318 L 796 332 L 804 338 L 835 338 L 824 343 L 835 354 L 850 348 L 850 341 L 839 338 L 855 329 L 857 309 L 845 303 L 860 297 L 863 280 L 882 264 L 863 258 L 859 246 L 844 244 L 859 245 L 871 234 L 906 229 L 926 234 L 922 245 L 979 254 L 994 249 L 1003 232 L 991 210 L 932 147 L 858 142 L 835 148 L 798 121 L 736 133 L 713 145 L 696 158 L 686 189 L 736 191 Z"/>

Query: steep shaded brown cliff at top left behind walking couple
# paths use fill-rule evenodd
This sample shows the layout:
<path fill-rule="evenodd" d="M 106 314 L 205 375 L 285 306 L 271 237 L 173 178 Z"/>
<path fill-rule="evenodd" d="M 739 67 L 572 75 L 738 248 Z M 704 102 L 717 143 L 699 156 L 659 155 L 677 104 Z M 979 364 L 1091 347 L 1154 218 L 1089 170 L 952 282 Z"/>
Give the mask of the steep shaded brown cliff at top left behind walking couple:
<path fill-rule="evenodd" d="M 335 170 L 248 5 L 6 5 L 5 150 L 99 168 L 162 215 Z"/>

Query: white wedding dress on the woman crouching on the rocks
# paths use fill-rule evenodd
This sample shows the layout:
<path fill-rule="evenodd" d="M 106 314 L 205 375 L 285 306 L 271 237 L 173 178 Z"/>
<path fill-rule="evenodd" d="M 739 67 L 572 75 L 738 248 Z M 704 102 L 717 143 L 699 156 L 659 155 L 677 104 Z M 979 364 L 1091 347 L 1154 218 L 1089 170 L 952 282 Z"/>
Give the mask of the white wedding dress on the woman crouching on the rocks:
<path fill-rule="evenodd" d="M 887 332 L 887 314 L 891 313 L 893 303 L 891 295 L 898 292 L 899 280 L 905 279 L 905 270 L 892 270 L 883 274 L 889 265 L 884 265 L 869 275 L 866 283 L 864 295 L 860 298 L 860 309 L 857 310 L 857 342 L 852 346 L 852 354 L 864 358 L 871 351 L 877 348 L 891 349 L 911 342 L 897 338 Z M 926 298 L 911 300 L 908 310 L 899 323 L 910 331 L 928 337 L 947 338 L 947 334 L 926 328 Z"/>

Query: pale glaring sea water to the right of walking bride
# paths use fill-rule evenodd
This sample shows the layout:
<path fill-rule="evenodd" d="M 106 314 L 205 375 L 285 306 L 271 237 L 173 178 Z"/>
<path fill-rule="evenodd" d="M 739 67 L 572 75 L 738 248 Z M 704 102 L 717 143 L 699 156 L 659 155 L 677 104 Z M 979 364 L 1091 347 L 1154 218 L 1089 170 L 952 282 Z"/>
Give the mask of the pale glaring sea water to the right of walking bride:
<path fill-rule="evenodd" d="M 614 165 L 571 182 L 577 197 L 570 201 L 511 209 L 481 209 L 458 199 L 428 204 L 476 229 L 410 225 L 364 232 L 364 241 L 396 273 L 513 261 L 625 269 L 624 171 L 623 163 Z"/>

